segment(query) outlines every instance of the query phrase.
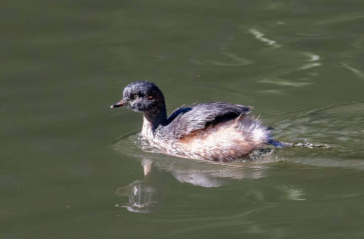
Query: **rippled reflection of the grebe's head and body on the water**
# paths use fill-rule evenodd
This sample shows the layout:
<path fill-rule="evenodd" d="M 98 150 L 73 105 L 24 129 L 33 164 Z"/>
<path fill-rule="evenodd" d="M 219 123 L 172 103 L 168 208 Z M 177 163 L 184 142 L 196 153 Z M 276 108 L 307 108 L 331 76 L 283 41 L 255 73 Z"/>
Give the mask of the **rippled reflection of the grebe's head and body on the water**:
<path fill-rule="evenodd" d="M 264 151 L 264 155 L 272 150 Z M 257 154 L 261 158 L 261 154 Z M 202 187 L 220 187 L 230 183 L 232 179 L 258 179 L 265 177 L 268 169 L 261 164 L 222 163 L 197 161 L 190 159 L 164 158 L 143 159 L 141 162 L 144 179 L 136 180 L 128 186 L 118 188 L 116 195 L 129 197 L 128 203 L 116 204 L 131 212 L 149 213 L 161 208 L 166 199 L 166 184 L 162 173 L 171 174 L 182 183 L 190 183 Z"/>

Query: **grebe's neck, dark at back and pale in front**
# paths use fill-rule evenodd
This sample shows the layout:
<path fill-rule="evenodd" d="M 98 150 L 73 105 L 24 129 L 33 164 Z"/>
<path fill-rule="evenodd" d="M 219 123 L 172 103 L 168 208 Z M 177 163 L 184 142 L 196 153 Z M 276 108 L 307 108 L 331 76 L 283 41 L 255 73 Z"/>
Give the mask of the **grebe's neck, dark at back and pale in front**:
<path fill-rule="evenodd" d="M 153 138 L 154 132 L 159 126 L 167 124 L 166 105 L 160 105 L 156 109 L 143 113 L 142 135 Z"/>

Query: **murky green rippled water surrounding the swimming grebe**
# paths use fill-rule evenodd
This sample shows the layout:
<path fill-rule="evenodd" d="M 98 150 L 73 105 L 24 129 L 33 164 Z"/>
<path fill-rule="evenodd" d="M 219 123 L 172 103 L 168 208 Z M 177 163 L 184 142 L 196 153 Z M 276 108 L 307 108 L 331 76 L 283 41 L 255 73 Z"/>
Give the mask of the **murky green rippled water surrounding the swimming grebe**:
<path fill-rule="evenodd" d="M 363 1 L 3 1 L 1 238 L 363 238 Z M 254 106 L 281 141 L 245 163 L 143 151 L 167 109 Z M 254 156 L 253 156 L 254 158 Z M 130 186 L 128 186 L 130 185 Z"/>

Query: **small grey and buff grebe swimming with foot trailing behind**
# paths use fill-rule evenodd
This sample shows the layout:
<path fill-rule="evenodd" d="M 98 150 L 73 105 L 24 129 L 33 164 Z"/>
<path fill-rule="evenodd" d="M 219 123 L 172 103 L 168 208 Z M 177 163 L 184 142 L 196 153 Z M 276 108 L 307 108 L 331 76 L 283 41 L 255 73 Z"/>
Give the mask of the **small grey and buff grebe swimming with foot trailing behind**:
<path fill-rule="evenodd" d="M 232 162 L 270 144 L 292 146 L 273 140 L 272 128 L 250 115 L 252 106 L 225 102 L 194 103 L 167 117 L 162 91 L 152 82 L 127 85 L 123 99 L 111 106 L 126 106 L 143 113 L 141 137 L 163 152 L 179 157 Z"/>

